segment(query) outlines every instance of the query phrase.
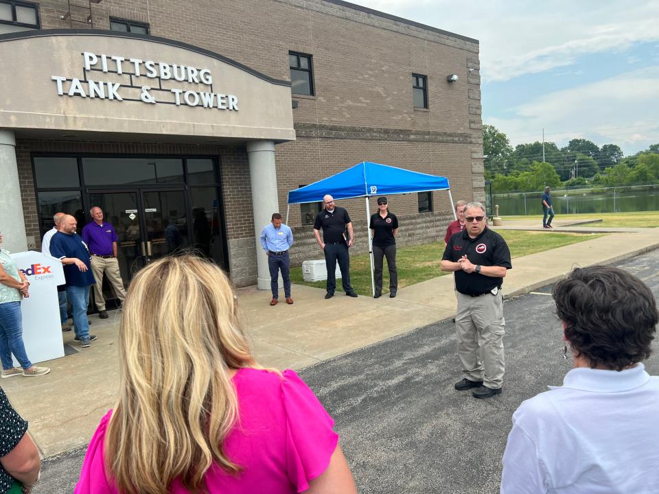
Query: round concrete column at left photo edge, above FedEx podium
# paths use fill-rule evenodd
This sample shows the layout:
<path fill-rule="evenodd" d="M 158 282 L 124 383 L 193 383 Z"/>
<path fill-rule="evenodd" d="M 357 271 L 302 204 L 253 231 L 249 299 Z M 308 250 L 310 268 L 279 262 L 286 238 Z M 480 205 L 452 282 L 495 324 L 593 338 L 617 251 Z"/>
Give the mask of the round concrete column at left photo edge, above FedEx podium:
<path fill-rule="evenodd" d="M 16 165 L 16 140 L 14 132 L 0 129 L 0 231 L 2 248 L 11 252 L 25 252 L 25 217 L 19 169 Z"/>

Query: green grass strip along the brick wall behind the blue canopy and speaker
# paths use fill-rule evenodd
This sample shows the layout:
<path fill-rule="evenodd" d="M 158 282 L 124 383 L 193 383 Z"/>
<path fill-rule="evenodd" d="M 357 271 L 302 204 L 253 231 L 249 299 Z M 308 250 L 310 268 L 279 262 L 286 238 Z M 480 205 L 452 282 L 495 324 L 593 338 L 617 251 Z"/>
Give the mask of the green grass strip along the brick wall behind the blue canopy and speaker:
<path fill-rule="evenodd" d="M 544 231 L 498 231 L 508 243 L 511 256 L 522 257 L 535 252 L 542 252 L 557 247 L 562 247 L 584 240 L 590 240 L 602 235 L 592 233 L 551 233 Z M 540 238 L 542 236 L 542 238 Z M 418 246 L 399 248 L 396 252 L 396 264 L 398 266 L 398 288 L 415 285 L 431 278 L 437 278 L 444 274 L 440 268 L 441 255 L 444 252 L 443 242 L 434 242 Z M 318 259 L 322 258 L 319 250 Z M 389 272 L 384 263 L 383 293 L 389 292 Z M 290 279 L 299 285 L 308 285 L 325 289 L 325 281 L 307 283 L 302 278 L 302 268 L 291 268 Z M 368 254 L 350 256 L 350 283 L 360 295 L 371 296 L 371 263 Z M 336 291 L 343 292 L 340 279 L 336 280 Z"/>

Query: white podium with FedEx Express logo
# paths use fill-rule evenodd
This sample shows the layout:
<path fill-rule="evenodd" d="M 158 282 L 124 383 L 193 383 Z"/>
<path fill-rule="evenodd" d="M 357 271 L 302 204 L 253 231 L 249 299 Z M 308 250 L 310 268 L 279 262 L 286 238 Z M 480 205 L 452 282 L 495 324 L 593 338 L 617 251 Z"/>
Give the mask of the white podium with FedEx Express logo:
<path fill-rule="evenodd" d="M 62 262 L 36 250 L 10 254 L 30 281 L 30 296 L 21 301 L 23 342 L 33 364 L 64 357 L 57 286 L 66 283 Z M 14 358 L 14 366 L 19 366 Z"/>

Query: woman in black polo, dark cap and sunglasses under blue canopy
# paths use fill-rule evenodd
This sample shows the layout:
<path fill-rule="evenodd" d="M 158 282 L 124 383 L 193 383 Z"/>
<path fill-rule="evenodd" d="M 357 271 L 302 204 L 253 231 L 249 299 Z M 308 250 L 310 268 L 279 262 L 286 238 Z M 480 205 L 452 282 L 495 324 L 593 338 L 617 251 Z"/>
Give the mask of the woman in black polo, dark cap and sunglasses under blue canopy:
<path fill-rule="evenodd" d="M 386 197 L 378 198 L 378 212 L 371 215 L 369 224 L 373 234 L 373 279 L 375 280 L 374 298 L 382 296 L 382 270 L 384 257 L 389 268 L 389 297 L 394 298 L 398 291 L 398 270 L 396 269 L 396 235 L 398 218 L 389 212 Z"/>

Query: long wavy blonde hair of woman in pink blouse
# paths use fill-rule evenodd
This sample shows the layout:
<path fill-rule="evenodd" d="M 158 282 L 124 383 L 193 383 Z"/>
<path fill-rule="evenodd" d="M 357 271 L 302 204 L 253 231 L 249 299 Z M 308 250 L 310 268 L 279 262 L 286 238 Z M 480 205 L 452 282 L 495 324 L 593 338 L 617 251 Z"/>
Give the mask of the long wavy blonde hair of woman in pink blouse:
<path fill-rule="evenodd" d="M 229 371 L 256 364 L 220 268 L 191 255 L 143 268 L 126 295 L 119 359 L 105 451 L 120 492 L 165 494 L 176 478 L 206 492 L 213 462 L 240 471 L 222 446 L 238 420 Z"/>

